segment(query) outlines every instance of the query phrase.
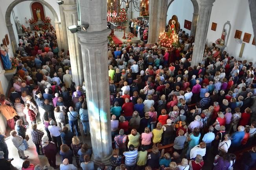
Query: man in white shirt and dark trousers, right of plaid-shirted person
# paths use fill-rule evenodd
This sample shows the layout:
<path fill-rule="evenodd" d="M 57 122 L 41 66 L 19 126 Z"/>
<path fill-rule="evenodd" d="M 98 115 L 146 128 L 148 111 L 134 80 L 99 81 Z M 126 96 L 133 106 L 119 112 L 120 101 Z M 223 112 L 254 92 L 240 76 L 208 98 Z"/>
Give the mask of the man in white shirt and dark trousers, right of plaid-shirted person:
<path fill-rule="evenodd" d="M 57 146 L 57 148 L 60 150 L 61 149 L 61 128 L 58 126 L 55 126 L 55 121 L 52 119 L 50 121 L 50 126 L 48 126 L 48 130 L 51 133 L 52 136 L 52 140 L 55 143 L 55 145 Z"/>

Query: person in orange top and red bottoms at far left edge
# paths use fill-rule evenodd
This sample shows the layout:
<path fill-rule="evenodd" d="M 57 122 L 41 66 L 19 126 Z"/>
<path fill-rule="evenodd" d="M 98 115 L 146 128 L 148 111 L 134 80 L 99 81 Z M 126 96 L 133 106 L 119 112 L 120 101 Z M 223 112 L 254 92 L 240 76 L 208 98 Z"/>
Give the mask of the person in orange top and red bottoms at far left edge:
<path fill-rule="evenodd" d="M 6 105 L 4 102 L 4 104 L 0 104 L 0 112 L 6 118 L 8 126 L 11 128 L 11 130 L 13 130 L 15 127 L 13 117 L 17 116 L 16 111 L 13 109 L 13 107 Z"/>

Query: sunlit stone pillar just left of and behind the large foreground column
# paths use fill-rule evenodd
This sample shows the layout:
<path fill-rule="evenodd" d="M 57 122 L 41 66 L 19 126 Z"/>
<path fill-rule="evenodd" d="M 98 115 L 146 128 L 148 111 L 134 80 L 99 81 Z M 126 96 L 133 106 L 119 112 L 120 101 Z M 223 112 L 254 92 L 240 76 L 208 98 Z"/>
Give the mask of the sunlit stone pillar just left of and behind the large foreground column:
<path fill-rule="evenodd" d="M 83 67 L 80 45 L 76 34 L 71 33 L 67 27 L 78 25 L 77 5 L 76 0 L 64 0 L 63 13 L 65 17 L 66 33 L 68 38 L 68 49 L 70 55 L 70 63 L 72 69 L 72 79 L 76 85 L 83 84 Z"/>

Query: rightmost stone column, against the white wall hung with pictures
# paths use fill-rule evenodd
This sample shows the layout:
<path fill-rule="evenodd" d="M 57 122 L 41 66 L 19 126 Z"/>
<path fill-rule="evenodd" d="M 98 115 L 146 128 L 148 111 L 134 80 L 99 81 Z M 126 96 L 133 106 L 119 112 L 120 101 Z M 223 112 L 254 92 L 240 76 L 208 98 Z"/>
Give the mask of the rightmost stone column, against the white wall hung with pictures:
<path fill-rule="evenodd" d="M 197 21 L 197 29 L 195 36 L 195 45 L 193 49 L 193 57 L 191 65 L 197 65 L 202 61 L 204 54 L 204 46 L 206 43 L 206 36 L 208 32 L 210 17 L 212 13 L 212 6 L 215 0 L 200 0 L 199 17 Z M 199 33 L 199 34 L 198 34 Z"/>

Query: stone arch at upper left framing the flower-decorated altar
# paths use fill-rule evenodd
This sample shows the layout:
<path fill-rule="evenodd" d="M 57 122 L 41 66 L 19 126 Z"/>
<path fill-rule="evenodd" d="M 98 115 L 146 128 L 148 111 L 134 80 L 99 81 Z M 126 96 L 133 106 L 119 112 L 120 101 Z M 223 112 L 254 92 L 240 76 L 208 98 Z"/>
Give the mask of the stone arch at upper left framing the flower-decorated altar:
<path fill-rule="evenodd" d="M 14 48 L 13 51 L 17 50 L 17 43 L 16 43 L 16 40 L 15 40 L 15 34 L 14 34 L 14 31 L 13 31 L 13 27 L 12 27 L 12 24 L 11 24 L 11 11 L 13 10 L 13 8 L 21 3 L 21 2 L 24 2 L 24 1 L 29 1 L 29 0 L 23 0 L 23 1 L 20 1 L 20 0 L 14 0 L 10 5 L 9 7 L 7 8 L 6 10 L 6 15 L 5 15 L 5 19 L 6 19 L 6 26 L 7 26 L 7 29 L 9 31 L 9 36 L 10 36 L 10 40 L 11 40 L 11 45 L 12 47 Z M 31 1 L 31 0 L 30 0 Z M 33 2 L 39 2 L 41 3 L 42 5 L 45 5 L 46 7 L 48 7 L 48 9 L 50 9 L 50 11 L 52 12 L 54 18 L 54 23 L 55 23 L 55 30 L 56 30 L 56 35 L 57 35 L 57 41 L 60 42 L 60 33 L 59 32 L 59 24 L 61 24 L 61 22 L 59 22 L 59 18 L 58 18 L 58 15 L 56 13 L 56 11 L 54 10 L 54 8 L 48 4 L 47 2 L 45 2 L 44 0 L 33 0 Z"/>

